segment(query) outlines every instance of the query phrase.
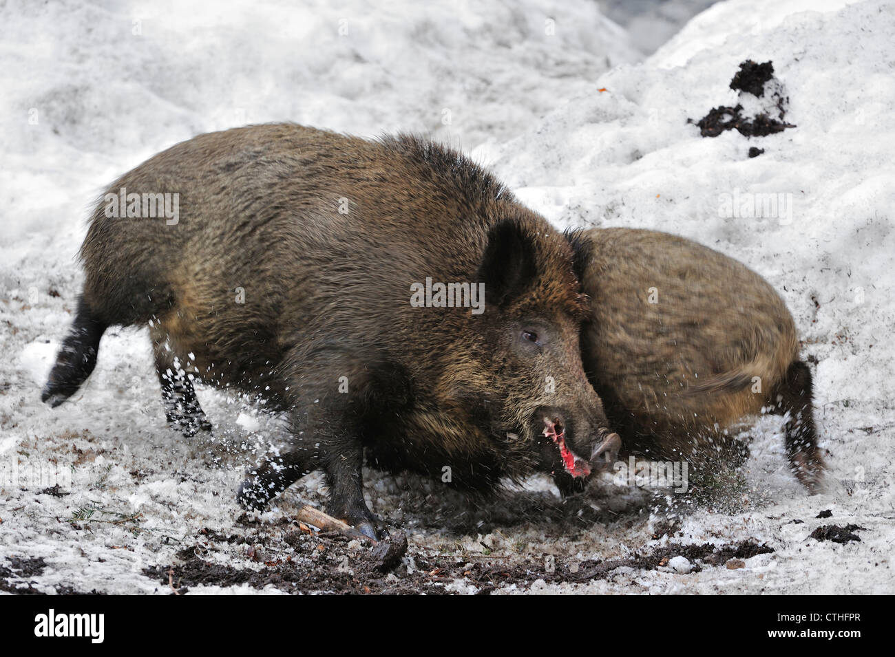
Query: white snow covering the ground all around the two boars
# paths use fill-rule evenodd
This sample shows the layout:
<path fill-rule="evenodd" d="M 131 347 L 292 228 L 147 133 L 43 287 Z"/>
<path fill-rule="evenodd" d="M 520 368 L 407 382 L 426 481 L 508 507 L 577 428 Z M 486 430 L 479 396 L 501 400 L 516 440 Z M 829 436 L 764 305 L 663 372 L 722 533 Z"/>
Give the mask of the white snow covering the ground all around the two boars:
<path fill-rule="evenodd" d="M 683 15 L 675 6 L 668 15 Z M 539 580 L 498 593 L 895 592 L 891 2 L 729 0 L 645 59 L 638 48 L 656 44 L 632 38 L 588 0 L 507 0 L 487 13 L 463 2 L 13 0 L 0 17 L 0 566 L 4 556 L 45 558 L 47 571 L 33 580 L 48 591 L 164 594 L 142 568 L 175 560 L 202 527 L 232 531 L 241 514 L 234 491 L 252 459 L 283 439 L 280 419 L 202 388 L 216 438 L 184 441 L 166 427 L 145 331 L 107 333 L 96 371 L 59 409 L 40 403 L 39 387 L 71 320 L 81 281 L 74 257 L 103 186 L 195 134 L 290 120 L 364 136 L 420 132 L 490 164 L 558 227 L 652 228 L 719 249 L 780 291 L 803 356 L 816 358 L 829 490 L 809 497 L 798 486 L 780 418 L 763 417 L 746 464 L 748 499 L 729 512 L 683 515 L 674 538 L 754 538 L 775 552 L 744 569 L 623 568 L 586 584 Z M 797 128 L 701 138 L 687 119 L 737 103 L 729 80 L 746 59 L 773 62 Z M 748 158 L 752 146 L 765 152 Z M 735 196 L 765 193 L 788 198 L 791 219 L 723 210 Z M 40 493 L 54 476 L 68 477 L 70 495 Z M 420 486 L 407 490 L 372 470 L 365 477 L 374 508 L 405 524 L 412 544 L 482 552 L 481 535 L 422 522 Z M 593 503 L 624 516 L 619 500 L 629 492 L 599 488 Z M 535 477 L 517 495 L 549 490 Z M 274 526 L 325 493 L 322 476 L 306 477 L 262 523 Z M 139 513 L 141 529 L 72 520 L 87 507 L 98 519 Z M 825 509 L 832 518 L 814 519 Z M 487 534 L 487 544 L 495 552 L 524 544 L 526 555 L 561 562 L 617 559 L 661 544 L 649 516 L 560 537 L 515 524 Z M 865 527 L 861 542 L 807 538 L 831 522 Z M 230 547 L 220 559 L 235 560 Z"/>

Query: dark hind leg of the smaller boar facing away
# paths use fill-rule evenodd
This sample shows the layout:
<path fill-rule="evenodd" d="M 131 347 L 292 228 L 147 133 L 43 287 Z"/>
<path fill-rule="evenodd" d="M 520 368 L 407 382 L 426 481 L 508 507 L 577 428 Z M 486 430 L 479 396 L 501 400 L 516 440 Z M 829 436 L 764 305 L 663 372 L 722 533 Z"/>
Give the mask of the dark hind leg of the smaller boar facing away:
<path fill-rule="evenodd" d="M 771 399 L 780 413 L 788 414 L 786 451 L 798 480 L 812 493 L 823 479 L 823 456 L 817 449 L 814 428 L 811 370 L 800 360 L 789 366 Z"/>

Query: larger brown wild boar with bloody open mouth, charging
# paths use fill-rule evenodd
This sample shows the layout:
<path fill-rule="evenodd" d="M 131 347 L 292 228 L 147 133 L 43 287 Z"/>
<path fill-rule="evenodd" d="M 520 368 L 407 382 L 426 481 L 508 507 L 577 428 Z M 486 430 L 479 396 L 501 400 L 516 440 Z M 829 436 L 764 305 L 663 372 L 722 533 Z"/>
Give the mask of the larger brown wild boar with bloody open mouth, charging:
<path fill-rule="evenodd" d="M 476 489 L 547 469 L 564 491 L 618 449 L 581 364 L 569 243 L 446 147 L 292 124 L 201 135 L 115 181 L 81 258 L 43 399 L 78 389 L 107 326 L 149 324 L 185 434 L 210 428 L 193 378 L 289 414 L 290 451 L 243 505 L 322 468 L 330 513 L 374 535 L 364 447 Z"/>

